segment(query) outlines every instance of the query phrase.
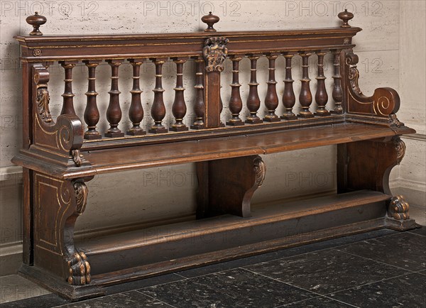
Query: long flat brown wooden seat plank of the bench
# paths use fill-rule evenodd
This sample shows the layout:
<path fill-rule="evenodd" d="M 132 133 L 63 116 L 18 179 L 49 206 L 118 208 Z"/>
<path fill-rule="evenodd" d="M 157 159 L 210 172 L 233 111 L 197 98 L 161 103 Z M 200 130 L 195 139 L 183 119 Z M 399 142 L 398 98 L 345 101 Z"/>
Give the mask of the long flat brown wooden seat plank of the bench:
<path fill-rule="evenodd" d="M 98 174 L 204 160 L 261 155 L 395 136 L 386 126 L 338 124 L 201 141 L 83 152 Z"/>

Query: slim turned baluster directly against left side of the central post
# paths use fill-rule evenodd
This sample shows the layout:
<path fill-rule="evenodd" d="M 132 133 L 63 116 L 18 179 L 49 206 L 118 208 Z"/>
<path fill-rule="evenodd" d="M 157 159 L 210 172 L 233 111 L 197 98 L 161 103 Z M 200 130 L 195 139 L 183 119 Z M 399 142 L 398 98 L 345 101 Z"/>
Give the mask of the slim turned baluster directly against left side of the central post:
<path fill-rule="evenodd" d="M 195 121 L 191 129 L 204 128 L 204 58 L 195 57 Z"/>

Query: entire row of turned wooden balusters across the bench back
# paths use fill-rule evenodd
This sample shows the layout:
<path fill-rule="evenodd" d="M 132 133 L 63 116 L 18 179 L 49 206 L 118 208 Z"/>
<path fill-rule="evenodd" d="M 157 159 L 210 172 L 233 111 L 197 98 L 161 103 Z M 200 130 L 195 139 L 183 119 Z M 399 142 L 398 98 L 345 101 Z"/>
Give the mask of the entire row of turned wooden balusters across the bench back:
<path fill-rule="evenodd" d="M 247 109 L 249 109 L 249 116 L 244 122 L 240 118 L 241 110 L 243 109 L 243 102 L 240 95 L 239 83 L 239 62 L 243 59 L 244 55 L 230 55 L 229 58 L 232 61 L 232 83 L 231 83 L 231 97 L 229 99 L 229 110 L 231 111 L 231 119 L 226 122 L 227 126 L 241 126 L 245 123 L 255 124 L 262 123 L 263 121 L 276 122 L 285 120 L 294 120 L 297 118 L 312 118 L 314 116 L 328 116 L 330 113 L 342 113 L 342 84 L 340 75 L 340 50 L 331 50 L 334 57 L 334 87 L 332 97 L 334 99 L 334 110 L 328 111 L 326 104 L 328 101 L 327 89 L 325 87 L 324 77 L 324 55 L 327 52 L 321 50 L 317 51 L 318 63 L 317 63 L 317 91 L 315 94 L 315 102 L 317 103 L 317 109 L 314 114 L 310 111 L 310 105 L 312 104 L 312 93 L 310 92 L 310 78 L 309 78 L 309 57 L 313 53 L 300 52 L 300 53 L 282 53 L 285 57 L 285 79 L 284 79 L 284 92 L 283 92 L 283 106 L 285 112 L 283 115 L 278 116 L 275 114 L 275 109 L 278 108 L 279 99 L 276 92 L 276 80 L 275 80 L 275 60 L 280 55 L 279 53 L 268 53 L 268 89 L 264 104 L 267 109 L 267 114 L 264 119 L 260 119 L 258 116 L 258 109 L 261 107 L 261 99 L 258 96 L 258 82 L 257 76 L 257 61 L 261 55 L 247 55 L 251 62 L 251 78 L 249 82 L 249 97 L 246 101 Z M 302 57 L 302 79 L 300 79 L 301 87 L 299 94 L 299 102 L 301 111 L 299 114 L 293 113 L 293 107 L 295 106 L 296 97 L 293 91 L 292 79 L 292 58 L 295 55 Z M 201 129 L 204 128 L 204 58 L 193 57 L 195 60 L 196 68 L 196 97 L 194 103 L 195 121 L 192 123 L 190 128 Z M 141 122 L 143 121 L 143 107 L 141 104 L 141 93 L 140 88 L 140 70 L 141 65 L 147 59 L 129 59 L 129 62 L 133 66 L 133 88 L 131 89 L 131 106 L 129 108 L 129 119 L 131 120 L 132 127 L 126 133 L 131 136 L 141 136 L 146 134 L 146 131 L 141 128 Z M 149 59 L 155 64 L 155 88 L 153 104 L 151 106 L 151 116 L 153 118 L 153 126 L 148 130 L 149 133 L 167 133 L 170 131 L 187 131 L 189 128 L 183 123 L 183 119 L 187 112 L 185 104 L 183 87 L 183 65 L 187 62 L 187 58 L 176 57 L 172 58 L 176 65 L 176 87 L 175 100 L 173 101 L 172 113 L 174 116 L 174 123 L 170 128 L 163 126 L 163 119 L 165 118 L 166 109 L 163 101 L 163 89 L 162 78 L 163 78 L 163 64 L 168 60 L 167 58 L 153 58 Z M 87 131 L 84 133 L 85 139 L 99 139 L 102 138 L 102 134 L 97 130 L 97 123 L 99 122 L 99 110 L 97 108 L 97 95 L 95 87 L 95 70 L 102 60 L 84 60 L 84 64 L 88 68 L 88 90 L 86 92 L 87 105 L 84 110 L 84 121 L 87 124 Z M 107 109 L 107 121 L 109 122 L 109 128 L 104 133 L 106 137 L 123 137 L 122 132 L 118 126 L 121 121 L 121 108 L 119 103 L 119 66 L 124 60 L 106 60 L 111 66 L 111 90 L 109 91 L 109 106 Z M 65 70 L 65 92 L 62 94 L 63 105 L 61 114 L 75 114 L 73 105 L 72 93 L 72 69 L 77 64 L 77 61 L 62 61 L 60 65 Z M 220 101 L 220 112 L 222 113 L 223 104 L 222 99 Z"/>

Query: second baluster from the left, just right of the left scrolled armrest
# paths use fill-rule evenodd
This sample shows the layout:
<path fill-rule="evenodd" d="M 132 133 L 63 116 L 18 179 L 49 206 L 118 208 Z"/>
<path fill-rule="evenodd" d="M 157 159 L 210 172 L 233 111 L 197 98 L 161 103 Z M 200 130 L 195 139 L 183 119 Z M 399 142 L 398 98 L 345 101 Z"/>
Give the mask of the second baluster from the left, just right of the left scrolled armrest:
<path fill-rule="evenodd" d="M 87 131 L 84 133 L 84 139 L 100 139 L 102 138 L 99 131 L 96 129 L 96 125 L 99 122 L 99 110 L 97 108 L 96 97 L 98 93 L 96 92 L 95 82 L 96 75 L 95 70 L 99 65 L 100 60 L 85 60 L 83 61 L 87 66 L 88 70 L 88 88 L 86 92 L 87 104 L 86 109 L 84 109 L 84 121 L 87 124 Z"/>

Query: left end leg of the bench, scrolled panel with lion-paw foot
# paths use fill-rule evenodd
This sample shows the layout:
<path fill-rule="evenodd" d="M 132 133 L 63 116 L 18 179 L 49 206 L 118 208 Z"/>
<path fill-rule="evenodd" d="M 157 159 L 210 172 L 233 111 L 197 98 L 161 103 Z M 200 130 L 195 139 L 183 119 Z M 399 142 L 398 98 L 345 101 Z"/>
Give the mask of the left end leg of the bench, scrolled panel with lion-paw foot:
<path fill-rule="evenodd" d="M 74 246 L 74 225 L 87 202 L 84 180 L 33 172 L 33 255 L 36 268 L 69 285 L 90 283 L 90 265 Z"/>

